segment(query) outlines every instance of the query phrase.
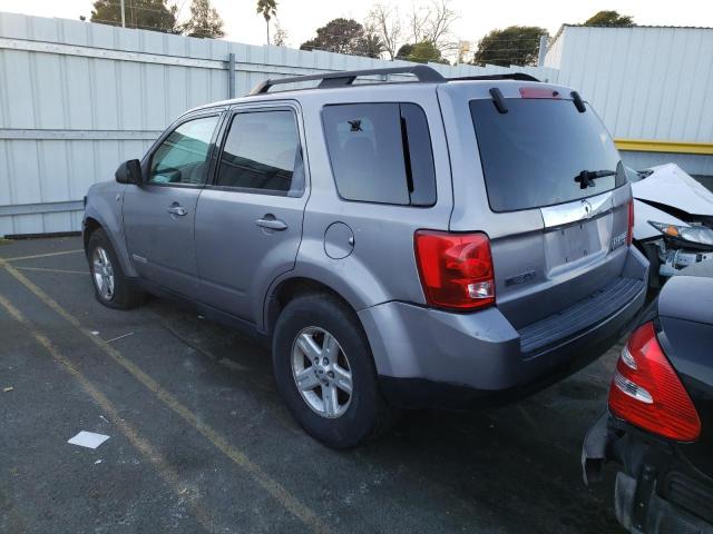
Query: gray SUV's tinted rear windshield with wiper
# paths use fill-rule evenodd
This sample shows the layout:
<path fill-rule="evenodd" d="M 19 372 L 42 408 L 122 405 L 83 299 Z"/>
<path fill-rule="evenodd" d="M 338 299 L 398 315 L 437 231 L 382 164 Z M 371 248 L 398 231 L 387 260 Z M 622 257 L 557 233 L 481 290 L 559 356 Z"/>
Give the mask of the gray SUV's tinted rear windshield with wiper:
<path fill-rule="evenodd" d="M 515 211 L 598 195 L 626 181 L 619 155 L 606 128 L 587 106 L 572 100 L 506 99 L 500 113 L 492 100 L 472 100 L 488 200 L 494 211 Z M 614 170 L 582 189 L 583 170 Z"/>

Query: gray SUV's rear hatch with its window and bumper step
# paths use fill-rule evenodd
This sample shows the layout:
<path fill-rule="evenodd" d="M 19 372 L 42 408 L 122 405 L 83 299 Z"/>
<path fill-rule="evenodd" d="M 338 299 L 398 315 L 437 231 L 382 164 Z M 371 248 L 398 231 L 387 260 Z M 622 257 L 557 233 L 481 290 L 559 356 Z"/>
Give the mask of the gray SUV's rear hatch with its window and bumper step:
<path fill-rule="evenodd" d="M 631 189 L 606 128 L 588 105 L 582 111 L 560 97 L 568 90 L 482 86 L 463 83 L 449 100 L 470 119 L 460 120 L 455 150 L 466 165 L 453 169 L 450 229 L 489 235 L 496 303 L 528 353 L 617 312 L 641 290 L 641 280 L 622 277 Z M 447 106 L 443 117 L 448 123 Z"/>

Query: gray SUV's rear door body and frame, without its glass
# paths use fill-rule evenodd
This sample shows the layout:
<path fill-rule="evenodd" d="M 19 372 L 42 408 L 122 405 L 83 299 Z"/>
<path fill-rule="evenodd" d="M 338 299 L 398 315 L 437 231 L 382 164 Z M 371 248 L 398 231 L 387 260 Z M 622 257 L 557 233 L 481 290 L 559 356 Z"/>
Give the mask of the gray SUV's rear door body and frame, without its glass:
<path fill-rule="evenodd" d="M 282 274 L 294 268 L 304 206 L 310 191 L 310 165 L 304 149 L 300 107 L 292 100 L 233 106 L 231 111 L 290 108 L 297 118 L 305 169 L 299 197 L 245 192 L 207 185 L 198 199 L 195 249 L 201 301 L 263 329 L 265 296 Z M 284 230 L 257 226 L 263 218 L 286 225 Z"/>

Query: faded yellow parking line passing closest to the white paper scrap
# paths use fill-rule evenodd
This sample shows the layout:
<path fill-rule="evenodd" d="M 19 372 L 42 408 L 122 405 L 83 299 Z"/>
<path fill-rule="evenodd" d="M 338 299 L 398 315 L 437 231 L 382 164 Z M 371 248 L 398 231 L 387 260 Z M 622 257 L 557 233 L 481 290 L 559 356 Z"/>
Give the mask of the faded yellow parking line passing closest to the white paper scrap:
<path fill-rule="evenodd" d="M 12 318 L 20 323 L 52 357 L 55 362 L 61 365 L 84 388 L 85 392 L 94 399 L 94 402 L 106 413 L 111 423 L 126 436 L 131 445 L 141 453 L 156 468 L 162 479 L 173 490 L 179 498 L 187 498 L 187 504 L 194 513 L 195 518 L 208 532 L 222 532 L 222 528 L 213 522 L 209 514 L 201 506 L 198 502 L 201 493 L 188 487 L 182 482 L 178 473 L 166 462 L 162 454 L 148 442 L 139 435 L 139 433 L 125 419 L 121 418 L 118 409 L 104 393 L 101 393 L 71 362 L 69 362 L 59 349 L 49 340 L 49 338 L 38 330 L 16 308 L 10 300 L 0 295 L 0 306 L 2 306 Z"/>

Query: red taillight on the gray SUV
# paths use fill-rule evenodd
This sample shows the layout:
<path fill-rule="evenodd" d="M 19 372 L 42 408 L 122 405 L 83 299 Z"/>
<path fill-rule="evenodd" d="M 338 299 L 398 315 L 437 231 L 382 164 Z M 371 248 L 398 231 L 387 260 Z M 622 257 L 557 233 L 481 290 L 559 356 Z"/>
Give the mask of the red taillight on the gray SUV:
<path fill-rule="evenodd" d="M 441 308 L 473 309 L 495 303 L 488 236 L 419 230 L 413 240 L 428 304 Z"/>

